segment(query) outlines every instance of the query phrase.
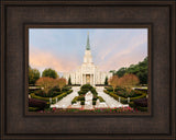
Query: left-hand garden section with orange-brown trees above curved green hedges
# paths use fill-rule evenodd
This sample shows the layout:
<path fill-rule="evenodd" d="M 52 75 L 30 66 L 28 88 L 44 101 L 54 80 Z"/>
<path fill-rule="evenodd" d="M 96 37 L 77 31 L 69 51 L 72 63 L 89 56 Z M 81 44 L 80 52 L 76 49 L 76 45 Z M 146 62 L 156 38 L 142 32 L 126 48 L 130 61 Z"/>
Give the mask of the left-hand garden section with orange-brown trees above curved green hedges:
<path fill-rule="evenodd" d="M 31 112 L 44 110 L 73 92 L 63 78 L 43 77 L 36 81 L 35 85 L 37 89 L 30 92 L 29 110 Z"/>

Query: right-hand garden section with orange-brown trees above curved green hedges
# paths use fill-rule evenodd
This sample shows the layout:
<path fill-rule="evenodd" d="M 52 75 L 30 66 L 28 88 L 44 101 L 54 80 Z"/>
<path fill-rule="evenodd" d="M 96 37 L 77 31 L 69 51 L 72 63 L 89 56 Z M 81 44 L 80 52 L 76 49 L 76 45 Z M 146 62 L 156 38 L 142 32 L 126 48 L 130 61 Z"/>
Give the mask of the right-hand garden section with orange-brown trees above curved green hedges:
<path fill-rule="evenodd" d="M 141 112 L 147 112 L 147 89 L 134 88 L 139 84 L 139 79 L 134 74 L 124 74 L 119 78 L 113 75 L 105 92 L 122 104 Z"/>

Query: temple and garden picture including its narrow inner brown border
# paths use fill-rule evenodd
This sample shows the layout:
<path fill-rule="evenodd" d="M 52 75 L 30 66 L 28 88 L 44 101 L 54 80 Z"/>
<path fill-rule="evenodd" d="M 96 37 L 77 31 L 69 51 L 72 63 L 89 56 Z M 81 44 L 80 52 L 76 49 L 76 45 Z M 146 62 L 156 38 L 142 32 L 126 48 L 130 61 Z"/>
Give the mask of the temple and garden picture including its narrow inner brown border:
<path fill-rule="evenodd" d="M 25 25 L 26 115 L 151 115 L 151 25 L 43 27 Z"/>

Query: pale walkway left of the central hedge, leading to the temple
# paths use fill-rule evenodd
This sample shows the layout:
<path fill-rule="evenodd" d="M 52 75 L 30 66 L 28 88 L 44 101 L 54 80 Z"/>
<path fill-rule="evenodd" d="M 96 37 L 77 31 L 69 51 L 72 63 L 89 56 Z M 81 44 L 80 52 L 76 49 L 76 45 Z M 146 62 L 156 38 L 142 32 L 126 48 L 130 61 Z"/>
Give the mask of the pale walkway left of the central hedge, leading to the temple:
<path fill-rule="evenodd" d="M 78 91 L 80 88 L 78 86 L 73 86 L 73 92 L 65 96 L 63 100 L 58 101 L 56 104 L 51 105 L 51 107 L 56 107 L 56 108 L 67 108 L 68 106 L 72 105 L 72 101 L 74 100 L 75 96 L 78 96 Z"/>

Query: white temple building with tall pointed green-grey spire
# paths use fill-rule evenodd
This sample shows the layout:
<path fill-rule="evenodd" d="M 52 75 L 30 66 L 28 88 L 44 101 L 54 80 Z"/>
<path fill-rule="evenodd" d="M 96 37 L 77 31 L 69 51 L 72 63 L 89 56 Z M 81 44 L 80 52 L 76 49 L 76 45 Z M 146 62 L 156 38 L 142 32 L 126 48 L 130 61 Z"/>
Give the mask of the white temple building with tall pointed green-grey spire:
<path fill-rule="evenodd" d="M 72 84 L 105 84 L 106 77 L 109 79 L 112 77 L 111 72 L 102 72 L 94 65 L 91 51 L 90 51 L 90 43 L 89 43 L 89 34 L 87 36 L 87 45 L 85 50 L 84 62 L 78 69 L 74 72 L 65 72 L 63 77 L 68 81 L 70 77 Z"/>

